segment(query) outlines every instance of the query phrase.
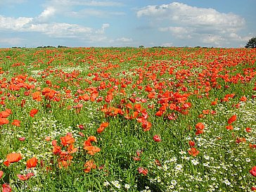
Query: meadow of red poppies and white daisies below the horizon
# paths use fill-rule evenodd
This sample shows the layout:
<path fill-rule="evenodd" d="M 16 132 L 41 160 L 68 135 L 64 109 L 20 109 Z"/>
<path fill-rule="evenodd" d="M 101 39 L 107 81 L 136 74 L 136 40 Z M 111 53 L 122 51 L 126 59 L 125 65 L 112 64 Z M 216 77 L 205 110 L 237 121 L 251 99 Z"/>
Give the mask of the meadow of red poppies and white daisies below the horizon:
<path fill-rule="evenodd" d="M 256 191 L 256 49 L 0 49 L 2 191 Z"/>

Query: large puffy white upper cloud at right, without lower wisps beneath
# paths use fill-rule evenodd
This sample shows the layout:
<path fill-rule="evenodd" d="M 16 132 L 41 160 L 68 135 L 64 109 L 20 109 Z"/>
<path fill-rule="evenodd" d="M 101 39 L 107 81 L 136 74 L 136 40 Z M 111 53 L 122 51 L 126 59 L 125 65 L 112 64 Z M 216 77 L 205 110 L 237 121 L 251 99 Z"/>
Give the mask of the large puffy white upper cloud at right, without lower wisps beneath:
<path fill-rule="evenodd" d="M 150 16 L 176 23 L 196 26 L 243 27 L 245 20 L 233 13 L 219 13 L 213 8 L 197 8 L 174 2 L 160 6 L 146 6 L 137 12 L 138 17 Z"/>

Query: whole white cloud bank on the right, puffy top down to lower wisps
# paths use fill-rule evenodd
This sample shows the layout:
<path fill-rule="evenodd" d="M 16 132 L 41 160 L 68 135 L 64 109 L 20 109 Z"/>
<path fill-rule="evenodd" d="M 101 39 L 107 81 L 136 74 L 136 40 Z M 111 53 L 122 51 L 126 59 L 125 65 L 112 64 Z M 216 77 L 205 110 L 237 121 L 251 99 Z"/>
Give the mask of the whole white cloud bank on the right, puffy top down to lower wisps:
<path fill-rule="evenodd" d="M 170 32 L 179 39 L 198 39 L 203 44 L 217 46 L 230 41 L 243 41 L 238 32 L 245 27 L 245 19 L 233 13 L 220 13 L 213 8 L 198 8 L 178 2 L 146 6 L 136 13 L 146 17 L 160 32 Z"/>

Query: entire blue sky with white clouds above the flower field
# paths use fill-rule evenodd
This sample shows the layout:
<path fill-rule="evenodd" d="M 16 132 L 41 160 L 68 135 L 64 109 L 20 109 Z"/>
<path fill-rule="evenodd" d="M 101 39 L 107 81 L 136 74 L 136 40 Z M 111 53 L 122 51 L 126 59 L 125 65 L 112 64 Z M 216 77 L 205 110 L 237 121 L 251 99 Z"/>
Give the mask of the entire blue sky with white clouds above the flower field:
<path fill-rule="evenodd" d="M 0 0 L 0 47 L 243 47 L 255 0 Z"/>

